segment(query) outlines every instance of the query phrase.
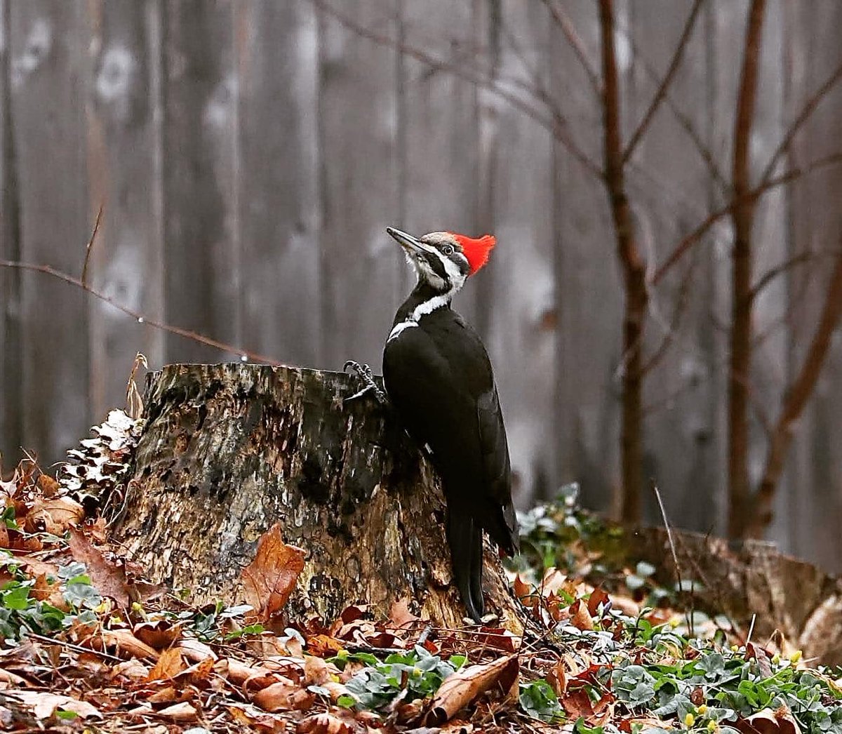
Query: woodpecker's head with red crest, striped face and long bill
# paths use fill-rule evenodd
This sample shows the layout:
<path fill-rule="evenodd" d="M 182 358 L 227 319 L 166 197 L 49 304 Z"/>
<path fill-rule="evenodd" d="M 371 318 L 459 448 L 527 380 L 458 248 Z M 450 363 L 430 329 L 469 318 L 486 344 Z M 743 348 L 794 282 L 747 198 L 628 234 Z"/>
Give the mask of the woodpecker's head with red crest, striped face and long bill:
<path fill-rule="evenodd" d="M 407 259 L 424 282 L 439 293 L 456 293 L 469 275 L 488 262 L 488 253 L 496 240 L 491 235 L 478 239 L 453 232 L 430 232 L 413 237 L 393 227 L 386 231 L 407 253 Z"/>

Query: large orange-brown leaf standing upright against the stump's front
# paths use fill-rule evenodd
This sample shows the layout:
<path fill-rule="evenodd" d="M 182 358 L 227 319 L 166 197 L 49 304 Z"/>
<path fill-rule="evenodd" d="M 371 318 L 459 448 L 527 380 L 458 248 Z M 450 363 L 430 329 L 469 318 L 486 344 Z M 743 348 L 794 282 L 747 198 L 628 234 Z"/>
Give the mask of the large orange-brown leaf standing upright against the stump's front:
<path fill-rule="evenodd" d="M 258 542 L 254 560 L 242 569 L 242 588 L 246 601 L 260 620 L 269 620 L 284 609 L 304 569 L 304 551 L 286 545 L 280 523 L 274 524 Z"/>

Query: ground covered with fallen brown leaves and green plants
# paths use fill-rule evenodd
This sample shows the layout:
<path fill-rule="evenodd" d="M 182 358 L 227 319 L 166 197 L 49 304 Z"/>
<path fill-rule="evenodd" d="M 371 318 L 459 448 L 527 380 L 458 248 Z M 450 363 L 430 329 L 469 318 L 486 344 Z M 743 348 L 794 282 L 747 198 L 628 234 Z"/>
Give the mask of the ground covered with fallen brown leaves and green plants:
<path fill-rule="evenodd" d="M 100 477 L 124 448 L 105 438 Z M 570 489 L 521 517 L 524 636 L 435 628 L 408 600 L 386 620 L 364 604 L 286 619 L 300 557 L 274 531 L 242 599 L 195 608 L 144 582 L 71 495 L 33 460 L 0 479 L 3 731 L 842 732 L 842 671 L 693 609 L 689 579 L 612 564 L 600 548 L 619 531 Z"/>

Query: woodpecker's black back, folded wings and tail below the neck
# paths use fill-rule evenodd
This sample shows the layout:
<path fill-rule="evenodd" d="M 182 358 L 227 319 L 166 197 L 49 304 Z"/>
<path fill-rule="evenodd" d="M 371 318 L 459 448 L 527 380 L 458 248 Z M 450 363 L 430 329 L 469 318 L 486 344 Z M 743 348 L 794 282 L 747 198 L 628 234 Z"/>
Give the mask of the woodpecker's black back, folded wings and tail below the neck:
<path fill-rule="evenodd" d="M 517 548 L 509 447 L 491 363 L 476 332 L 450 308 L 424 316 L 386 343 L 386 391 L 418 444 L 428 444 L 448 504 L 454 576 L 482 616 L 482 529 Z"/>

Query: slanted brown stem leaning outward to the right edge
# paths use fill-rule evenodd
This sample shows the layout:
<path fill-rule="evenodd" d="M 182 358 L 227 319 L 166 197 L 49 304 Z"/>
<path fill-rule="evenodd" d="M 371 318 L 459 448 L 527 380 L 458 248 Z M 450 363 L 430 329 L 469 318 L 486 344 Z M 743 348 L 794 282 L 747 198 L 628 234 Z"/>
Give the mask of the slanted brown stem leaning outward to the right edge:
<path fill-rule="evenodd" d="M 842 253 L 836 259 L 834 272 L 830 276 L 828 293 L 824 300 L 822 315 L 813 334 L 813 341 L 801 366 L 795 382 L 786 395 L 781 417 L 772 433 L 765 471 L 754 497 L 754 516 L 749 523 L 747 535 L 759 538 L 772 520 L 772 501 L 775 488 L 781 480 L 786 453 L 792 441 L 792 431 L 813 391 L 828 354 L 830 339 L 842 316 Z"/>

